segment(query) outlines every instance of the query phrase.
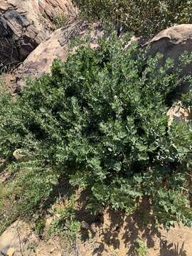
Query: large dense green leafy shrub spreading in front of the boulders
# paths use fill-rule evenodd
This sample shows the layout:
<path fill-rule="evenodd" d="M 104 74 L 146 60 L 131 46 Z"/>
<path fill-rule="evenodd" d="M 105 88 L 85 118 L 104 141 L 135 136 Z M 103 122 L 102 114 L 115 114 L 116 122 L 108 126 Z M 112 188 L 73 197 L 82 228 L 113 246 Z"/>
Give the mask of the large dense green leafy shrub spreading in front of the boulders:
<path fill-rule="evenodd" d="M 68 178 L 95 205 L 133 213 L 143 199 L 160 223 L 191 225 L 191 122 L 168 127 L 167 98 L 183 82 L 162 56 L 146 58 L 127 36 L 80 46 L 13 101 L 1 95 L 0 154 L 11 172 L 6 198 L 20 215 L 43 207 Z M 181 58 L 181 66 L 188 63 Z M 13 151 L 19 149 L 20 159 Z M 13 199 L 14 195 L 14 199 Z M 9 201 L 10 202 L 10 201 Z M 6 208 L 6 206 L 4 206 Z M 2 203 L 1 203 L 2 208 Z"/>

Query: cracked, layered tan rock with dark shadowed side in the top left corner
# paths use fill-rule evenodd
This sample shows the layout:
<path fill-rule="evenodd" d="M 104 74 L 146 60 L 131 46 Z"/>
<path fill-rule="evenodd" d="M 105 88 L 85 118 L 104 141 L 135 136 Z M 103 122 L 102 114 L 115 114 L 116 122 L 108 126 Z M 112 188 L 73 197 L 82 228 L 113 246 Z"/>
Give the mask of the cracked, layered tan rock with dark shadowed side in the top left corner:
<path fill-rule="evenodd" d="M 75 15 L 70 0 L 0 0 L 0 68 L 23 61 L 61 13 Z"/>

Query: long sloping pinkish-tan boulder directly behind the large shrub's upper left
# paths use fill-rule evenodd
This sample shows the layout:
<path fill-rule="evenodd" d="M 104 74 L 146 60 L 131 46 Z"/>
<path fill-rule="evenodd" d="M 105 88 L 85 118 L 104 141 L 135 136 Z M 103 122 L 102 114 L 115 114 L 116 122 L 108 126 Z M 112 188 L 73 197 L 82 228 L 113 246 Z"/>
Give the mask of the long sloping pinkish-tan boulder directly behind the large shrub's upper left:
<path fill-rule="evenodd" d="M 91 25 L 85 21 L 79 21 L 54 31 L 19 66 L 16 73 L 18 87 L 23 87 L 23 78 L 34 78 L 39 77 L 43 73 L 49 73 L 55 58 L 66 60 L 68 58 L 68 45 L 70 41 L 78 36 L 80 38 L 85 36 L 88 31 L 92 31 L 91 47 L 97 47 L 95 39 L 102 34 L 102 25 L 100 23 Z"/>

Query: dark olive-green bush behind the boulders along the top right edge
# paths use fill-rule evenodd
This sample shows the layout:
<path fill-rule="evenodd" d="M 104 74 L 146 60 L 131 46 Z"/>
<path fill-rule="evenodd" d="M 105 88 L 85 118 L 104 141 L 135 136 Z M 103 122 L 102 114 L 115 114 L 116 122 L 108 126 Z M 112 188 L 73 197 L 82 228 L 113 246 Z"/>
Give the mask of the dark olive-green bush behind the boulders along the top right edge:
<path fill-rule="evenodd" d="M 124 24 L 134 33 L 152 34 L 181 23 L 191 23 L 192 3 L 184 0 L 73 0 L 84 18 L 105 18 Z"/>

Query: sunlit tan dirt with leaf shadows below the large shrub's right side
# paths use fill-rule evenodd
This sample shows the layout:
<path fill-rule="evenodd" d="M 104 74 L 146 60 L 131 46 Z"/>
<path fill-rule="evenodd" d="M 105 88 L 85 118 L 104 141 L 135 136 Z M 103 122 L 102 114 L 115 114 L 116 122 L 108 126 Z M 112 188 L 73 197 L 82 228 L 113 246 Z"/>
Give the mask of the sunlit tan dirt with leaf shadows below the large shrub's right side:
<path fill-rule="evenodd" d="M 100 227 L 95 230 L 92 240 L 80 244 L 81 255 L 134 256 L 135 241 L 142 238 L 149 248 L 147 256 L 191 256 L 192 228 L 144 227 L 139 221 L 120 213 L 107 211 Z"/>

